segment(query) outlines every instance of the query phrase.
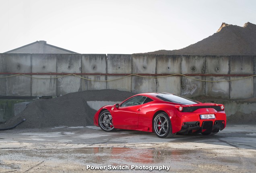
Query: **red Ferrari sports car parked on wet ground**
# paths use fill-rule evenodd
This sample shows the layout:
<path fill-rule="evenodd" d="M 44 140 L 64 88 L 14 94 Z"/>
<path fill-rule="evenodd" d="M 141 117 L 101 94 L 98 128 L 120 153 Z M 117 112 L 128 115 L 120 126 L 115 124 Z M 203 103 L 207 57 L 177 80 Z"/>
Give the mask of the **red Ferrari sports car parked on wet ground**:
<path fill-rule="evenodd" d="M 200 103 L 170 93 L 144 93 L 102 107 L 93 122 L 103 131 L 129 129 L 170 138 L 176 133 L 214 135 L 226 127 L 226 114 L 221 104 Z"/>

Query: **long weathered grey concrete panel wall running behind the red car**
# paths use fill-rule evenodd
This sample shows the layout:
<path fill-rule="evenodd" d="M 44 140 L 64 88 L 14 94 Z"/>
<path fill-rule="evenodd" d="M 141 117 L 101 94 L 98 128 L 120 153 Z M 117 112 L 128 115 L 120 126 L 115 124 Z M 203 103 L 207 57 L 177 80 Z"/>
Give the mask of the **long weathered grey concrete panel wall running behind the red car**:
<path fill-rule="evenodd" d="M 53 73 L 28 75 L 31 78 L 22 75 L 0 78 L 0 95 L 59 96 L 85 90 L 118 89 L 134 93 L 169 92 L 190 98 L 246 99 L 256 97 L 256 78 L 239 79 L 242 78 L 239 75 L 256 74 L 255 69 L 255 56 L 0 54 L 2 73 Z M 76 73 L 78 76 L 60 76 L 56 73 Z M 190 76 L 156 78 L 154 74 Z M 0 74 L 0 77 L 6 75 Z"/>

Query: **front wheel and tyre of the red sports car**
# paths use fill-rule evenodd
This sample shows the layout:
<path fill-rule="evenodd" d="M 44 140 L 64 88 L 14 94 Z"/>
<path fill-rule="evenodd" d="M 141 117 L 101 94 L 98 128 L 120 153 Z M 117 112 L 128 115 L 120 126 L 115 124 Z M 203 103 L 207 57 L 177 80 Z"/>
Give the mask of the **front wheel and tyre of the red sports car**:
<path fill-rule="evenodd" d="M 99 114 L 99 127 L 103 131 L 115 131 L 114 125 L 112 123 L 112 115 L 109 111 L 103 111 Z"/>

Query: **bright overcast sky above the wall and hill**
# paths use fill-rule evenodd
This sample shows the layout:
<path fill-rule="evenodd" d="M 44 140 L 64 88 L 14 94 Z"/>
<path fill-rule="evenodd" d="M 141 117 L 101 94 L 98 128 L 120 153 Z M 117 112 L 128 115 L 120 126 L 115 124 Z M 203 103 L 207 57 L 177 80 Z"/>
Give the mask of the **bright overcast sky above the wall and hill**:
<path fill-rule="evenodd" d="M 0 52 L 45 40 L 84 54 L 174 50 L 222 22 L 256 24 L 255 0 L 0 0 Z"/>

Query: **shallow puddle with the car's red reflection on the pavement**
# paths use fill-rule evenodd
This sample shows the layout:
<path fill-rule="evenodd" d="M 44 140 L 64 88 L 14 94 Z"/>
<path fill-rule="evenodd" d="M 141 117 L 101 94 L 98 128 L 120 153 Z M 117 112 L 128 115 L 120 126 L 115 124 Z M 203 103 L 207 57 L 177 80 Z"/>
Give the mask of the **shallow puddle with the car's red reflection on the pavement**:
<path fill-rule="evenodd" d="M 85 163 L 105 163 L 105 164 L 132 164 L 132 163 L 161 163 L 179 161 L 180 155 L 188 154 L 182 150 L 152 150 L 152 149 L 130 149 L 119 147 L 91 147 L 74 149 L 76 159 L 83 160 Z M 184 158 L 184 156 L 182 157 Z"/>

